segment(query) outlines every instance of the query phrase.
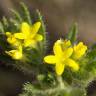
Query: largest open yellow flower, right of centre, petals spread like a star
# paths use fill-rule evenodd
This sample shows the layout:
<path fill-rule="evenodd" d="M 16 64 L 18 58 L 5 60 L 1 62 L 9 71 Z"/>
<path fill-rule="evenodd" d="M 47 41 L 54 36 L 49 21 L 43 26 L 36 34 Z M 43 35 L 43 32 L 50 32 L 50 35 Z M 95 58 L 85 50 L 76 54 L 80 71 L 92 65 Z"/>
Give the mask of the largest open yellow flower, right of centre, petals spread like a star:
<path fill-rule="evenodd" d="M 71 59 L 73 48 L 70 41 L 57 40 L 53 46 L 54 55 L 45 56 L 44 61 L 55 64 L 57 75 L 62 75 L 65 66 L 71 67 L 74 71 L 79 70 L 79 65 Z"/>

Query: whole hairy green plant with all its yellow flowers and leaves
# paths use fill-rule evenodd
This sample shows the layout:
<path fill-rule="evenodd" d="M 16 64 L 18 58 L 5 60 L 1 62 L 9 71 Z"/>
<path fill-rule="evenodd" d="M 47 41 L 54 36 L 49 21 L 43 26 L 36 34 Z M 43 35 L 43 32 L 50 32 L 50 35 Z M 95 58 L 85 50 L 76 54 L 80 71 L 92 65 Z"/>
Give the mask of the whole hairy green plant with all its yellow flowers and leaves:
<path fill-rule="evenodd" d="M 46 54 L 48 39 L 43 17 L 38 10 L 30 15 L 27 6 L 11 10 L 11 18 L 0 22 L 0 61 L 34 77 L 19 96 L 87 96 L 87 87 L 96 78 L 96 45 L 90 48 L 77 40 L 73 24 L 65 38 Z"/>

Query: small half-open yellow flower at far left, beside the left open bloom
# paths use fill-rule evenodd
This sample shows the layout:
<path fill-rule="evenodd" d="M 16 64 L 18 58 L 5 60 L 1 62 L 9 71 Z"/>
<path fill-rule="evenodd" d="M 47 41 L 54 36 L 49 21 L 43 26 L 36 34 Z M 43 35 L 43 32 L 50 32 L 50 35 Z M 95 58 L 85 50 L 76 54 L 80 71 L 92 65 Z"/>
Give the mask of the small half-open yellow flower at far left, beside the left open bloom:
<path fill-rule="evenodd" d="M 7 42 L 13 46 L 18 46 L 20 42 L 10 32 L 6 32 Z"/>

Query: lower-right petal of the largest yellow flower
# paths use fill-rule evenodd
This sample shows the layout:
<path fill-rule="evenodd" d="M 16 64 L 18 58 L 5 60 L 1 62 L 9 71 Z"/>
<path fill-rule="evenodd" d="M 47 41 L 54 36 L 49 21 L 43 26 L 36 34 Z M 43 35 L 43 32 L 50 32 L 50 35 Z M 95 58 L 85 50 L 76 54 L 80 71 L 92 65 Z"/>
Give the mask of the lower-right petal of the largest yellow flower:
<path fill-rule="evenodd" d="M 71 67 L 74 71 L 78 71 L 79 70 L 79 65 L 74 60 L 66 59 L 65 63 L 66 63 L 67 66 Z"/>

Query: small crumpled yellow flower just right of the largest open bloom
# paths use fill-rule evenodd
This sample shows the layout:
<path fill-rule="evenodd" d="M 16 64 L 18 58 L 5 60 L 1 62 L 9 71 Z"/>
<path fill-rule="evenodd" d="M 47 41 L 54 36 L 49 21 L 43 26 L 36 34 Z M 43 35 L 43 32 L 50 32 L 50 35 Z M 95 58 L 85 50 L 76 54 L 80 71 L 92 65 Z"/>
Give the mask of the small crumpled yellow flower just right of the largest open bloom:
<path fill-rule="evenodd" d="M 73 49 L 74 49 L 73 58 L 79 59 L 85 54 L 87 46 L 84 45 L 83 42 L 80 42 L 78 45 L 75 45 Z"/>

